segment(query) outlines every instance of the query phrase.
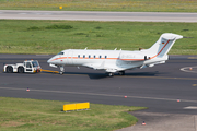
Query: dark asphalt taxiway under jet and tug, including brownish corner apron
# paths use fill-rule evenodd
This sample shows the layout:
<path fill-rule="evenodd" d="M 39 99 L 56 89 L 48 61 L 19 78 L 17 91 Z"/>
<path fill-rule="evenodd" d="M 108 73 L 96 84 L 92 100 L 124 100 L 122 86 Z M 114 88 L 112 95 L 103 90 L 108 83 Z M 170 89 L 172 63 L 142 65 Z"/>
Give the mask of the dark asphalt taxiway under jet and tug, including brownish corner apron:
<path fill-rule="evenodd" d="M 43 69 L 59 71 L 46 62 L 50 57 L 53 56 L 0 55 L 0 68 L 3 69 L 3 63 L 36 59 Z M 37 74 L 1 72 L 0 96 L 143 106 L 148 109 L 130 112 L 139 119 L 139 122 L 123 129 L 124 131 L 196 131 L 196 56 L 170 56 L 165 64 L 129 70 L 126 71 L 126 75 L 115 74 L 114 78 L 108 78 L 103 71 L 82 67 L 80 69 L 66 67 L 63 75 L 49 72 Z M 30 92 L 26 92 L 27 87 Z M 142 126 L 142 121 L 147 124 Z"/>

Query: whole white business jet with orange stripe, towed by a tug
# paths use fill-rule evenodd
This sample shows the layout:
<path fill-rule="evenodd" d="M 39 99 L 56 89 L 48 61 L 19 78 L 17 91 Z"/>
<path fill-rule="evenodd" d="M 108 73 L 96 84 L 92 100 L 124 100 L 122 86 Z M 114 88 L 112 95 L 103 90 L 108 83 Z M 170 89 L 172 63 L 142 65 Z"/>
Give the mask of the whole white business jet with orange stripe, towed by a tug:
<path fill-rule="evenodd" d="M 139 51 L 126 50 L 88 50 L 85 49 L 68 49 L 62 50 L 47 62 L 50 67 L 59 67 L 60 74 L 65 72 L 65 66 L 83 66 L 94 70 L 105 70 L 109 76 L 115 72 L 120 75 L 126 70 L 135 68 L 153 67 L 154 64 L 165 63 L 169 59 L 167 52 L 176 41 L 183 36 L 164 33 L 159 40 L 149 49 Z"/>

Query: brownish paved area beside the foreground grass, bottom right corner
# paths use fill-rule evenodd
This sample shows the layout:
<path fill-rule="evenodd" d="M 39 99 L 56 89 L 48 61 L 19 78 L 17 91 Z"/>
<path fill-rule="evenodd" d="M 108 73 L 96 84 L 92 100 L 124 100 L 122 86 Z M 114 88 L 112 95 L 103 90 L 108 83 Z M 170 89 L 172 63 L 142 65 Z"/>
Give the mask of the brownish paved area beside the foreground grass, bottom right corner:
<path fill-rule="evenodd" d="M 142 111 L 131 115 L 138 118 L 138 123 L 116 131 L 197 131 L 197 115 Z"/>

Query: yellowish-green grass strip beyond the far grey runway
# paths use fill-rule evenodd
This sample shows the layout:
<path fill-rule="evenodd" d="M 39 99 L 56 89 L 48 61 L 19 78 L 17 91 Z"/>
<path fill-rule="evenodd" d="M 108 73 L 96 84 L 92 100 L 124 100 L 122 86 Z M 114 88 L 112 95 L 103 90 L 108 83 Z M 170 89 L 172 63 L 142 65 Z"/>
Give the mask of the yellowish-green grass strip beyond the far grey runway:
<path fill-rule="evenodd" d="M 196 0 L 0 0 L 2 10 L 197 12 Z"/>

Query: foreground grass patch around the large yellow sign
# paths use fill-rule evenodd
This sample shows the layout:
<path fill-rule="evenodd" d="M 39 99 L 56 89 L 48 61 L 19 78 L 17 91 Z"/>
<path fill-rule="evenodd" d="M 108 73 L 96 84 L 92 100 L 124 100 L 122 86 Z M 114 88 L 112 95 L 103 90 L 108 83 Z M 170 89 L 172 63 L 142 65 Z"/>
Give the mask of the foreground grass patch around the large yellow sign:
<path fill-rule="evenodd" d="M 112 131 L 135 124 L 126 111 L 144 107 L 91 104 L 90 110 L 62 112 L 68 102 L 0 97 L 1 131 Z"/>

